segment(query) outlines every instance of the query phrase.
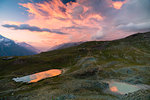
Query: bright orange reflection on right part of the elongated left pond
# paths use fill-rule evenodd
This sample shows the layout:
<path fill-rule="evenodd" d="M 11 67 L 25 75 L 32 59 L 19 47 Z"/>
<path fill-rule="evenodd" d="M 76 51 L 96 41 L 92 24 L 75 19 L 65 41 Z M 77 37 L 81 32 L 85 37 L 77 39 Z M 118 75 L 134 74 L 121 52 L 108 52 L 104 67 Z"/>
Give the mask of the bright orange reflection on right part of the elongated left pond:
<path fill-rule="evenodd" d="M 54 77 L 54 76 L 60 75 L 61 73 L 62 71 L 59 69 L 52 69 L 52 70 L 48 70 L 44 72 L 39 72 L 39 73 L 30 75 L 31 81 L 29 81 L 29 83 L 37 82 L 41 79 L 48 78 L 48 77 Z"/>

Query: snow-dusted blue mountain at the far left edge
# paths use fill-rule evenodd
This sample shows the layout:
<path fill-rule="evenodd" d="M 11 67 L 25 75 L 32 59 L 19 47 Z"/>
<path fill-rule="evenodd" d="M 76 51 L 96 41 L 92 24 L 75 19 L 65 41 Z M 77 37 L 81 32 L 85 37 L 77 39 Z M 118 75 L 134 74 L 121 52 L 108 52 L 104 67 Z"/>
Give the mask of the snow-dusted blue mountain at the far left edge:
<path fill-rule="evenodd" d="M 20 46 L 13 40 L 0 35 L 0 56 L 25 56 L 34 54 L 37 54 L 37 52 Z"/>

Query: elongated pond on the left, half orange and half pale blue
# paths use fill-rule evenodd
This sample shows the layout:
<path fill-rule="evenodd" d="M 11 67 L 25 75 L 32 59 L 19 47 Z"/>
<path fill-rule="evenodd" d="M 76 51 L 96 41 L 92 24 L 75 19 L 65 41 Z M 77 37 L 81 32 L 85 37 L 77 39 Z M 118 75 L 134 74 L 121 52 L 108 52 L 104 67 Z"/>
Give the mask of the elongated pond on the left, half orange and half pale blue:
<path fill-rule="evenodd" d="M 40 81 L 42 79 L 45 79 L 45 78 L 48 78 L 48 77 L 58 76 L 61 73 L 62 73 L 62 70 L 51 69 L 51 70 L 48 70 L 48 71 L 43 71 L 43 72 L 35 73 L 35 74 L 32 74 L 32 75 L 13 78 L 13 80 L 16 81 L 16 82 L 33 83 L 33 82 L 38 82 L 38 81 Z"/>

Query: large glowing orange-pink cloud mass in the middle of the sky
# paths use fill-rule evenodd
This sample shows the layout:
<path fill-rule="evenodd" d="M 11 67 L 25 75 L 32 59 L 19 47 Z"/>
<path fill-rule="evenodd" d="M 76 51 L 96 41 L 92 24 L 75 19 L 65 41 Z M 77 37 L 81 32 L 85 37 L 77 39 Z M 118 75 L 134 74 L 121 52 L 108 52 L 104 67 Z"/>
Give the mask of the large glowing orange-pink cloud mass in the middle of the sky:
<path fill-rule="evenodd" d="M 52 0 L 20 5 L 27 8 L 30 16 L 26 24 L 68 33 L 66 36 L 47 33 L 45 35 L 47 39 L 44 41 L 47 41 L 50 46 L 66 42 L 89 41 L 97 31 L 101 30 L 100 22 L 103 17 L 97 13 L 88 13 L 91 8 L 78 2 L 69 2 L 65 5 L 61 0 Z"/>

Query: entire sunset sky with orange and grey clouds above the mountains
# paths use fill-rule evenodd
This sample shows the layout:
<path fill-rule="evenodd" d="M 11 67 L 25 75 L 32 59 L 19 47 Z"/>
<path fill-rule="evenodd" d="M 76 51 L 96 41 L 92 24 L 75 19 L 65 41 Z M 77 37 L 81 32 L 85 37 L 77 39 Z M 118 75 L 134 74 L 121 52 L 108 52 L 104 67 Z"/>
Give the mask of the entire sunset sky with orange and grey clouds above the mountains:
<path fill-rule="evenodd" d="M 150 31 L 150 0 L 0 0 L 0 34 L 45 51 Z"/>

